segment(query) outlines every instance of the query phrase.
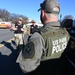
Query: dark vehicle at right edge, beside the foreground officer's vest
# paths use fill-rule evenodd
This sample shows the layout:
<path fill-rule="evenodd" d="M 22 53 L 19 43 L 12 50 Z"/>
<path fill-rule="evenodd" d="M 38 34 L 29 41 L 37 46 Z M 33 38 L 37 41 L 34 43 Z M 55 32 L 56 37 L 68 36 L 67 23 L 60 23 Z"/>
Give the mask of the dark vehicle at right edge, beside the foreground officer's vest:
<path fill-rule="evenodd" d="M 75 75 L 75 25 L 73 19 L 64 19 L 61 23 L 62 28 L 69 32 L 70 47 L 63 53 L 63 66 L 60 75 Z"/>

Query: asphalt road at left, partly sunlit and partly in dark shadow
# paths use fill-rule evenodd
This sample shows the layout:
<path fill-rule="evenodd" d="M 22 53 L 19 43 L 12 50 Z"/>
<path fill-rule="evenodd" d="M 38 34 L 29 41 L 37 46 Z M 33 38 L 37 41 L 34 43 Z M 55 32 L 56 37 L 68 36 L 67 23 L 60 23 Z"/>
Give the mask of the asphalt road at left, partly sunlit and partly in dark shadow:
<path fill-rule="evenodd" d="M 0 29 L 0 43 L 4 44 L 0 47 L 0 75 L 26 75 L 16 63 L 19 51 L 16 50 L 14 40 L 7 42 L 13 37 L 13 32 L 9 29 Z"/>

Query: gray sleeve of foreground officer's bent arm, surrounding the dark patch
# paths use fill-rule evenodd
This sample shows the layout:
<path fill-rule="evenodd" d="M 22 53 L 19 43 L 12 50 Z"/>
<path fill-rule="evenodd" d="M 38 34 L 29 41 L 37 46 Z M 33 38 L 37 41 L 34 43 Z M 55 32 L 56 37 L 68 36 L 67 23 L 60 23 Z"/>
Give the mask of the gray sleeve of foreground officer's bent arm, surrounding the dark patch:
<path fill-rule="evenodd" d="M 40 65 L 41 56 L 44 49 L 44 40 L 42 36 L 37 32 L 31 36 L 29 42 L 33 42 L 34 44 L 33 49 L 35 50 L 35 54 L 33 55 L 33 57 L 24 60 L 22 52 L 20 52 L 17 59 L 17 62 L 20 64 L 20 67 L 23 70 L 23 72 L 31 72 Z"/>

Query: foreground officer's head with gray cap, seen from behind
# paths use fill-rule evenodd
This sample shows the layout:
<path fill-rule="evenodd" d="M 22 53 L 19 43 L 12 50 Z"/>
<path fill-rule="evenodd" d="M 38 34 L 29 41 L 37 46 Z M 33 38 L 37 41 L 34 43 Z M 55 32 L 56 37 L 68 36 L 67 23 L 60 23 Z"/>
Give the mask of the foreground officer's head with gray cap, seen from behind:
<path fill-rule="evenodd" d="M 47 22 L 58 21 L 60 6 L 57 0 L 44 0 L 44 2 L 40 4 L 39 10 L 42 11 L 40 19 L 43 24 Z"/>

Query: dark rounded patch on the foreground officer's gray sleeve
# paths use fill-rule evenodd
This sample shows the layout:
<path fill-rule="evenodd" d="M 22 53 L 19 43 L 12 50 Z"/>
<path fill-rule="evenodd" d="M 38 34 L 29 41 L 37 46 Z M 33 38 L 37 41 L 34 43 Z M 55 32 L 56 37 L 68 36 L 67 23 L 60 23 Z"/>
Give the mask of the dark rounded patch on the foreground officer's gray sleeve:
<path fill-rule="evenodd" d="M 34 44 L 32 42 L 27 43 L 22 51 L 22 57 L 24 59 L 32 58 L 35 54 Z"/>

